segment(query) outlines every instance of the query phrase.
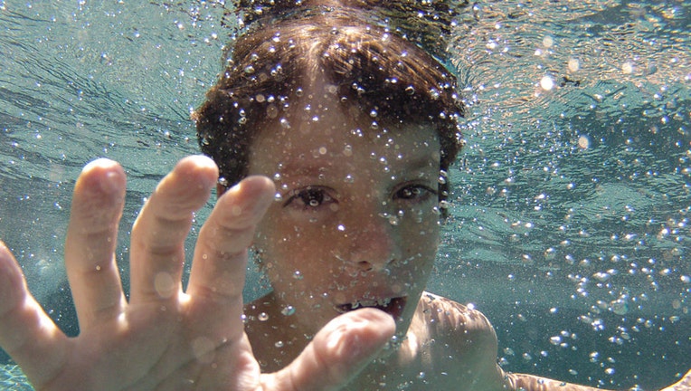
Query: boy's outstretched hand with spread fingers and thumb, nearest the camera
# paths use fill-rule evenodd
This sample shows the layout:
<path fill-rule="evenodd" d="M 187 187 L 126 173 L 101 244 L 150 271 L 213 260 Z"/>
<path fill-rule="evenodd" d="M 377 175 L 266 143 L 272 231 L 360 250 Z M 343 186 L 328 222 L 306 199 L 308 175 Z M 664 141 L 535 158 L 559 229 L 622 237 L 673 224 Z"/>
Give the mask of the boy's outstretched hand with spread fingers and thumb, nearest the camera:
<path fill-rule="evenodd" d="M 185 237 L 217 176 L 207 157 L 186 157 L 156 187 L 132 229 L 127 300 L 115 260 L 125 173 L 107 159 L 84 167 L 65 243 L 76 338 L 33 299 L 0 242 L 0 346 L 36 389 L 336 389 L 383 347 L 393 319 L 357 310 L 328 323 L 288 367 L 260 374 L 241 320 L 242 287 L 247 248 L 273 199 L 270 179 L 248 177 L 219 198 L 182 289 Z"/>

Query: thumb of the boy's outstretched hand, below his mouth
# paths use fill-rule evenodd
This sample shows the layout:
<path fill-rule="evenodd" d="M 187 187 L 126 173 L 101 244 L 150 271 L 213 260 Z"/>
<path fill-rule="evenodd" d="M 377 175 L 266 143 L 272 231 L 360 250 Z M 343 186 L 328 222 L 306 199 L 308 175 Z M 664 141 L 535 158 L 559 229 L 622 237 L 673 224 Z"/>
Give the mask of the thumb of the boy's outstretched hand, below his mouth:
<path fill-rule="evenodd" d="M 396 325 L 382 310 L 364 308 L 338 316 L 319 330 L 288 367 L 262 375 L 265 390 L 336 390 L 370 363 Z"/>

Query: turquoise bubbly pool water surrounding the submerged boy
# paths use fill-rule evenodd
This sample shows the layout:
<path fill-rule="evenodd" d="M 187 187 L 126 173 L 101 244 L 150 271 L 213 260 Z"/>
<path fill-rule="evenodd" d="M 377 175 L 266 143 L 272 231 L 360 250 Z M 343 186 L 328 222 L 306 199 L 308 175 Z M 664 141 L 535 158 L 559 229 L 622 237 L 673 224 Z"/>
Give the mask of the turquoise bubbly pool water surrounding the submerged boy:
<path fill-rule="evenodd" d="M 126 275 L 144 198 L 197 152 L 188 118 L 221 69 L 221 17 L 213 2 L 0 0 L 0 237 L 71 335 L 74 180 L 95 157 L 127 170 Z M 459 20 L 468 144 L 430 290 L 487 314 L 506 370 L 652 388 L 691 367 L 689 22 L 677 0 L 487 1 Z M 0 388 L 30 389 L 3 363 Z"/>

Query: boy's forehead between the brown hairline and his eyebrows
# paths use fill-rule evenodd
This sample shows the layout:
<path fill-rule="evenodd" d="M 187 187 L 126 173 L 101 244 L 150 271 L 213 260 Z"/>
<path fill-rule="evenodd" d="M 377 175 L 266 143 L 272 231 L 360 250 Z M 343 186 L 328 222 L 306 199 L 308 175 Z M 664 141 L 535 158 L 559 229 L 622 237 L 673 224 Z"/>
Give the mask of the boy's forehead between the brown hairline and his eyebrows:
<path fill-rule="evenodd" d="M 439 167 L 440 140 L 431 123 L 401 123 L 382 118 L 336 88 L 315 80 L 283 116 L 261 125 L 250 148 L 250 168 L 270 163 L 281 171 L 314 170 L 326 165 L 362 166 L 363 160 L 429 160 Z"/>

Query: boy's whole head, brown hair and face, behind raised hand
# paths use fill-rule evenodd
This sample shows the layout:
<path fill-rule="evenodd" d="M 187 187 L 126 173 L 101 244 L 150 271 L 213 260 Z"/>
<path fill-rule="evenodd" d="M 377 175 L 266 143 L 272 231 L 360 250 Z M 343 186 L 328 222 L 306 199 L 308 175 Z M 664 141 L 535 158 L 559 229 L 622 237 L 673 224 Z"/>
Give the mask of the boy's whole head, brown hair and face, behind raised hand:
<path fill-rule="evenodd" d="M 306 334 L 377 306 L 404 333 L 439 238 L 462 106 L 439 62 L 330 11 L 241 36 L 195 114 L 223 186 L 274 179 L 255 246 Z"/>

